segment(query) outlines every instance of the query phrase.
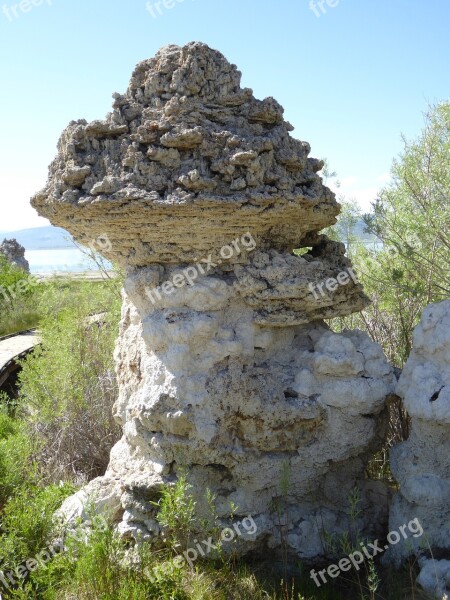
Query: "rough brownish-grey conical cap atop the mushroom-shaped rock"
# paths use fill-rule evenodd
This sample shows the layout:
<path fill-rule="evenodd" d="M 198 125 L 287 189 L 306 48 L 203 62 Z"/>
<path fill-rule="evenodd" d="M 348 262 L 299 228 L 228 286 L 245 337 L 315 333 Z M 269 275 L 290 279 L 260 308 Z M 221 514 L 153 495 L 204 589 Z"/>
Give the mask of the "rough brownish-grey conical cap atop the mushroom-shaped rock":
<path fill-rule="evenodd" d="M 240 79 L 204 44 L 164 48 L 105 121 L 67 127 L 33 206 L 79 242 L 106 233 L 127 267 L 192 262 L 244 222 L 261 250 L 301 247 L 338 204 L 282 107 Z"/>

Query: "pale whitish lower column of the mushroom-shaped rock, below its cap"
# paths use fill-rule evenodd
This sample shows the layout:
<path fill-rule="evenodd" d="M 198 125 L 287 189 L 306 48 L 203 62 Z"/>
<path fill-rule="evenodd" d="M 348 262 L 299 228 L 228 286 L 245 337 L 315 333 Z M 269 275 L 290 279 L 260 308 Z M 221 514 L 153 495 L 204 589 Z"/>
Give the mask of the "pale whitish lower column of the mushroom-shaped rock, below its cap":
<path fill-rule="evenodd" d="M 182 466 L 200 506 L 209 487 L 219 516 L 226 519 L 231 502 L 238 515 L 255 515 L 256 537 L 269 547 L 280 544 L 273 507 L 286 503 L 289 545 L 304 558 L 325 553 L 325 531 L 348 529 L 354 486 L 365 508 L 361 528 L 379 523 L 380 503 L 370 501 L 362 472 L 394 384 L 381 349 L 322 323 L 260 326 L 233 286 L 214 277 L 155 306 L 142 288 L 148 271 L 125 283 L 116 351 L 124 437 L 106 477 L 122 485 L 119 530 L 157 535 L 150 502 Z M 306 522 L 320 549 L 305 537 Z"/>

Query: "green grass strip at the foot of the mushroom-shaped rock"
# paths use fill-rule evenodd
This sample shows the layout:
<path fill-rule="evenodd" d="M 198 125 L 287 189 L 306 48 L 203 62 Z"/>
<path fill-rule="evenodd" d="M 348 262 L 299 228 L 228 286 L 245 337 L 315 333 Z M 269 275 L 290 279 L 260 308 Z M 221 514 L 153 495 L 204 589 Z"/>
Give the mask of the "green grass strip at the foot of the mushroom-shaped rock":
<path fill-rule="evenodd" d="M 54 491 L 48 494 L 54 498 Z M 40 498 L 42 505 L 43 500 Z M 47 503 L 44 507 L 48 508 Z M 34 512 L 34 511 L 33 511 Z M 22 527 L 23 530 L 23 527 Z M 30 529 L 43 548 L 42 524 Z M 27 548 L 28 550 L 28 548 Z M 40 546 L 30 548 L 36 556 Z M 127 555 L 128 552 L 128 555 Z M 139 555 L 139 559 L 137 556 Z M 20 561 L 19 561 L 20 564 Z M 23 563 L 22 563 L 23 564 Z M 3 569 L 4 570 L 4 569 Z M 147 576 L 148 570 L 152 579 Z M 413 574 L 415 576 L 416 573 Z M 66 540 L 66 549 L 20 583 L 10 597 L 40 600 L 422 600 L 408 570 L 383 573 L 384 589 L 375 595 L 352 580 L 317 589 L 305 572 L 283 581 L 270 563 L 222 560 L 180 567 L 168 551 L 152 552 L 143 545 L 131 559 L 130 550 L 108 529 L 94 530 L 88 544 Z"/>

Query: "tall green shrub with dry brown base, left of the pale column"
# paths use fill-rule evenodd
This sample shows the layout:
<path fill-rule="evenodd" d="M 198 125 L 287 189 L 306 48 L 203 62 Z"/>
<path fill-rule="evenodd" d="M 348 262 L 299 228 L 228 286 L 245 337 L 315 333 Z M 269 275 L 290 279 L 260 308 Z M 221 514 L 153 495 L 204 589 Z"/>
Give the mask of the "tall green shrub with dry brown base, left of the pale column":
<path fill-rule="evenodd" d="M 103 474 L 119 438 L 112 416 L 118 285 L 53 282 L 42 294 L 42 346 L 23 362 L 19 379 L 22 413 L 48 482 Z"/>

